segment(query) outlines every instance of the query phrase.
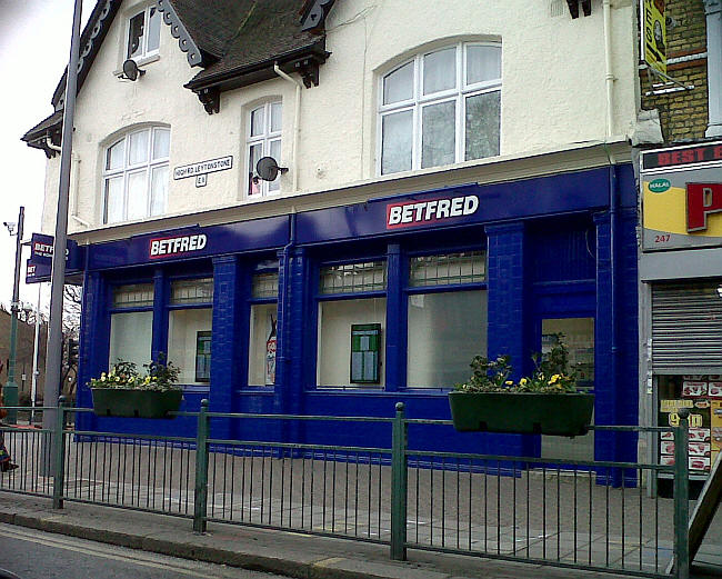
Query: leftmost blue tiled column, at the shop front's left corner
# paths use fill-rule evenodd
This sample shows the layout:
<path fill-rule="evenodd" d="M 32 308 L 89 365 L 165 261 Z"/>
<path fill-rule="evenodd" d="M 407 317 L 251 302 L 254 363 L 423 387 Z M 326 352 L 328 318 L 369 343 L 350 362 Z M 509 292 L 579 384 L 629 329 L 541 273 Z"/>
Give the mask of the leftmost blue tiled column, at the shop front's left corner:
<path fill-rule="evenodd" d="M 108 369 L 109 326 L 106 313 L 107 287 L 102 276 L 97 272 L 86 272 L 83 279 L 82 308 L 80 315 L 80 346 L 78 359 L 78 390 L 76 406 L 91 408 L 92 398 L 88 381 Z M 79 413 L 77 417 L 80 430 L 93 430 L 96 417 L 90 413 Z"/>

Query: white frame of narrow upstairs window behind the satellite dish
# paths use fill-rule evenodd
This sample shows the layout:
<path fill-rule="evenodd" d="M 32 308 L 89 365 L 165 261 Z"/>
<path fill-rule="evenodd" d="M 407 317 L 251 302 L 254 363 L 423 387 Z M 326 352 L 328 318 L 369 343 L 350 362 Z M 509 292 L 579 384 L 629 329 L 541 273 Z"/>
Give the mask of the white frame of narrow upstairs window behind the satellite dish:
<path fill-rule="evenodd" d="M 281 128 L 278 131 L 271 130 L 271 109 L 274 104 L 281 107 Z M 252 118 L 255 111 L 263 110 L 263 132 L 261 134 L 252 134 L 253 123 Z M 245 156 L 245 173 L 243 176 L 243 190 L 244 198 L 248 200 L 258 200 L 258 199 L 268 199 L 275 198 L 281 194 L 281 173 L 274 181 L 264 181 L 255 177 L 255 167 L 251 167 L 251 148 L 260 144 L 261 146 L 261 157 L 273 157 L 271 154 L 272 143 L 278 142 L 280 147 L 279 159 L 275 161 L 281 163 L 281 154 L 283 152 L 283 99 L 269 99 L 261 104 L 249 108 L 245 112 L 245 143 L 243 146 L 243 151 Z M 259 192 L 251 194 L 249 179 L 258 179 Z M 248 176 L 248 177 L 247 177 Z M 273 187 L 273 188 L 272 188 Z"/>

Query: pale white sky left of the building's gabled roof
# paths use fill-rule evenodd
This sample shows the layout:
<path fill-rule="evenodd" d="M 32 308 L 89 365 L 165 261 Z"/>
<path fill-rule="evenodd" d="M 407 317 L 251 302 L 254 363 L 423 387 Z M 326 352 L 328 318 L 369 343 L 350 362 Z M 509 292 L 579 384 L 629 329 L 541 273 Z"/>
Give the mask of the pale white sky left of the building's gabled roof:
<path fill-rule="evenodd" d="M 96 0 L 83 0 L 84 23 Z M 18 221 L 26 208 L 24 238 L 40 231 L 46 156 L 20 138 L 52 113 L 50 99 L 70 58 L 73 0 L 0 0 L 0 223 Z M 12 300 L 16 238 L 0 226 L 0 302 Z M 21 280 L 24 280 L 23 249 Z M 43 310 L 49 292 L 44 292 Z M 36 303 L 36 286 L 20 287 Z"/>

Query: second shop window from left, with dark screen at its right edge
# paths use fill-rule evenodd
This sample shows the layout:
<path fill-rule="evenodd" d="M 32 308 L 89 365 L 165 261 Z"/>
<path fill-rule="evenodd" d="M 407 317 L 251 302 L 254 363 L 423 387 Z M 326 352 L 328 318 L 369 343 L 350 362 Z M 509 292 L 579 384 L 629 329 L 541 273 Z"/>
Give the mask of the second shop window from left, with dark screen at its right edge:
<path fill-rule="evenodd" d="M 212 278 L 171 282 L 168 359 L 180 368 L 180 383 L 210 382 L 212 302 Z"/>

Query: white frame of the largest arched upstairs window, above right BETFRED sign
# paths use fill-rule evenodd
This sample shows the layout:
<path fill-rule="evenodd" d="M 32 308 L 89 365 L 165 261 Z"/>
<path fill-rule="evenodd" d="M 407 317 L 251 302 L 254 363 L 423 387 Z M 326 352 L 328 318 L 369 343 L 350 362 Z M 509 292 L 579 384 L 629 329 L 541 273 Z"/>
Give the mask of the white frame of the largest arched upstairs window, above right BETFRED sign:
<path fill-rule="evenodd" d="M 467 63 L 468 63 L 468 49 L 469 47 L 493 47 L 500 49 L 500 69 L 501 76 L 498 79 L 481 81 L 475 83 L 468 83 L 467 74 Z M 455 50 L 455 86 L 453 89 L 447 89 L 443 91 L 434 92 L 432 94 L 423 94 L 423 79 L 424 79 L 424 57 L 441 52 L 453 48 Z M 471 97 L 477 97 L 479 94 L 499 92 L 500 100 L 502 98 L 502 87 L 503 87 L 503 51 L 501 51 L 502 43 L 500 41 L 460 41 L 452 44 L 447 44 L 438 47 L 434 49 L 422 50 L 419 53 L 414 54 L 412 58 L 404 60 L 403 62 L 394 66 L 383 74 L 379 76 L 378 82 L 378 97 L 377 97 L 377 154 L 375 154 L 375 172 L 377 176 L 382 177 L 387 174 L 397 174 L 408 171 L 418 171 L 420 169 L 433 169 L 438 167 L 444 167 L 442 164 L 422 167 L 422 153 L 423 153 L 423 109 L 430 104 L 440 104 L 443 102 L 455 102 L 454 111 L 454 161 L 450 164 L 461 163 L 467 161 L 465 159 L 465 149 L 467 149 L 467 130 L 465 130 L 465 113 L 467 113 L 467 99 Z M 413 64 L 413 78 L 412 78 L 412 98 L 403 101 L 393 102 L 390 104 L 384 104 L 383 102 L 383 89 L 384 80 L 402 69 L 407 64 Z M 412 111 L 412 147 L 411 147 L 411 168 L 403 169 L 401 171 L 383 172 L 383 119 L 393 113 Z M 499 111 L 499 127 L 501 136 L 501 127 L 503 124 L 502 107 L 500 106 Z M 501 139 L 500 139 L 500 151 L 501 154 Z M 479 159 L 484 159 L 488 157 L 481 157 Z M 469 159 L 479 160 L 479 159 Z"/>

